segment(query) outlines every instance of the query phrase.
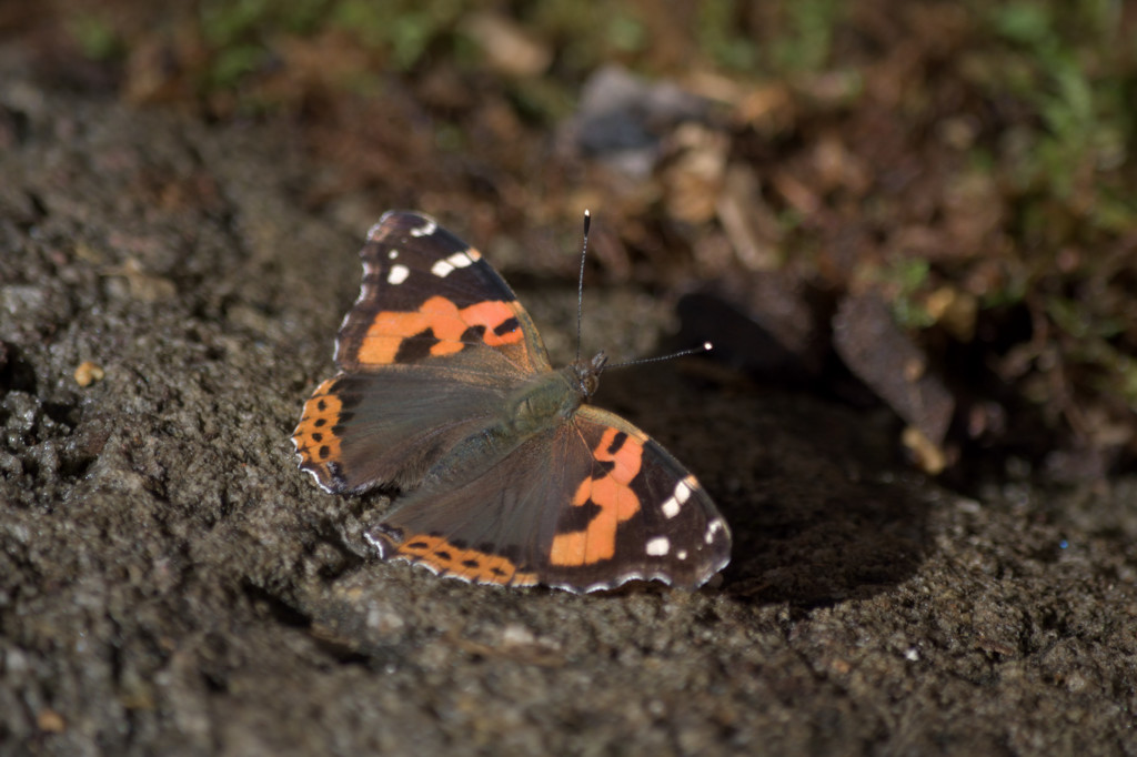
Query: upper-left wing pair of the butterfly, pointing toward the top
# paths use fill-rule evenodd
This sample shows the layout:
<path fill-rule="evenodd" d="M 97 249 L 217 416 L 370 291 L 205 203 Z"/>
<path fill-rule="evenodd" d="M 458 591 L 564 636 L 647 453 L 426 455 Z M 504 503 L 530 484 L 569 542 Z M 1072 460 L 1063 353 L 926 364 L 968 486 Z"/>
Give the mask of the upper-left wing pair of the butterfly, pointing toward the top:
<path fill-rule="evenodd" d="M 391 211 L 359 256 L 341 372 L 305 405 L 300 467 L 332 492 L 410 488 L 500 398 L 549 363 L 509 285 L 434 219 Z"/>

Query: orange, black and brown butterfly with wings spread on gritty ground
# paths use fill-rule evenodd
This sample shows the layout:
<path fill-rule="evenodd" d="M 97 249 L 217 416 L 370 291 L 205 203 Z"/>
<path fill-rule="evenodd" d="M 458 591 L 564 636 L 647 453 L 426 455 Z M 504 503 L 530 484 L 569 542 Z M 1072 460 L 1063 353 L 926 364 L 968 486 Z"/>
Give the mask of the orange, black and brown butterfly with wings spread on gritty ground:
<path fill-rule="evenodd" d="M 603 352 L 554 369 L 505 280 L 429 216 L 384 214 L 360 257 L 339 373 L 292 442 L 326 491 L 395 494 L 366 533 L 382 559 L 574 592 L 694 590 L 725 567 L 730 530 L 695 476 L 589 404 Z"/>

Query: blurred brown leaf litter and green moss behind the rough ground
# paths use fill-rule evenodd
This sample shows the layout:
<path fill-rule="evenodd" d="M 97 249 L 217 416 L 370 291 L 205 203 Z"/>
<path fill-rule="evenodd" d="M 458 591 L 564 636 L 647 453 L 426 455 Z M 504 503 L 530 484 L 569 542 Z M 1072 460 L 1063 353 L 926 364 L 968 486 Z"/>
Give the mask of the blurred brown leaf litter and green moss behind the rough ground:
<path fill-rule="evenodd" d="M 323 167 L 298 188 L 313 210 L 381 198 L 530 243 L 595 205 L 599 275 L 720 297 L 811 371 L 847 303 L 836 347 L 926 467 L 995 449 L 1069 479 L 1135 451 L 1135 17 L 242 0 L 3 20 L 60 83 L 293 130 Z M 903 378 L 855 348 L 894 327 Z"/>

